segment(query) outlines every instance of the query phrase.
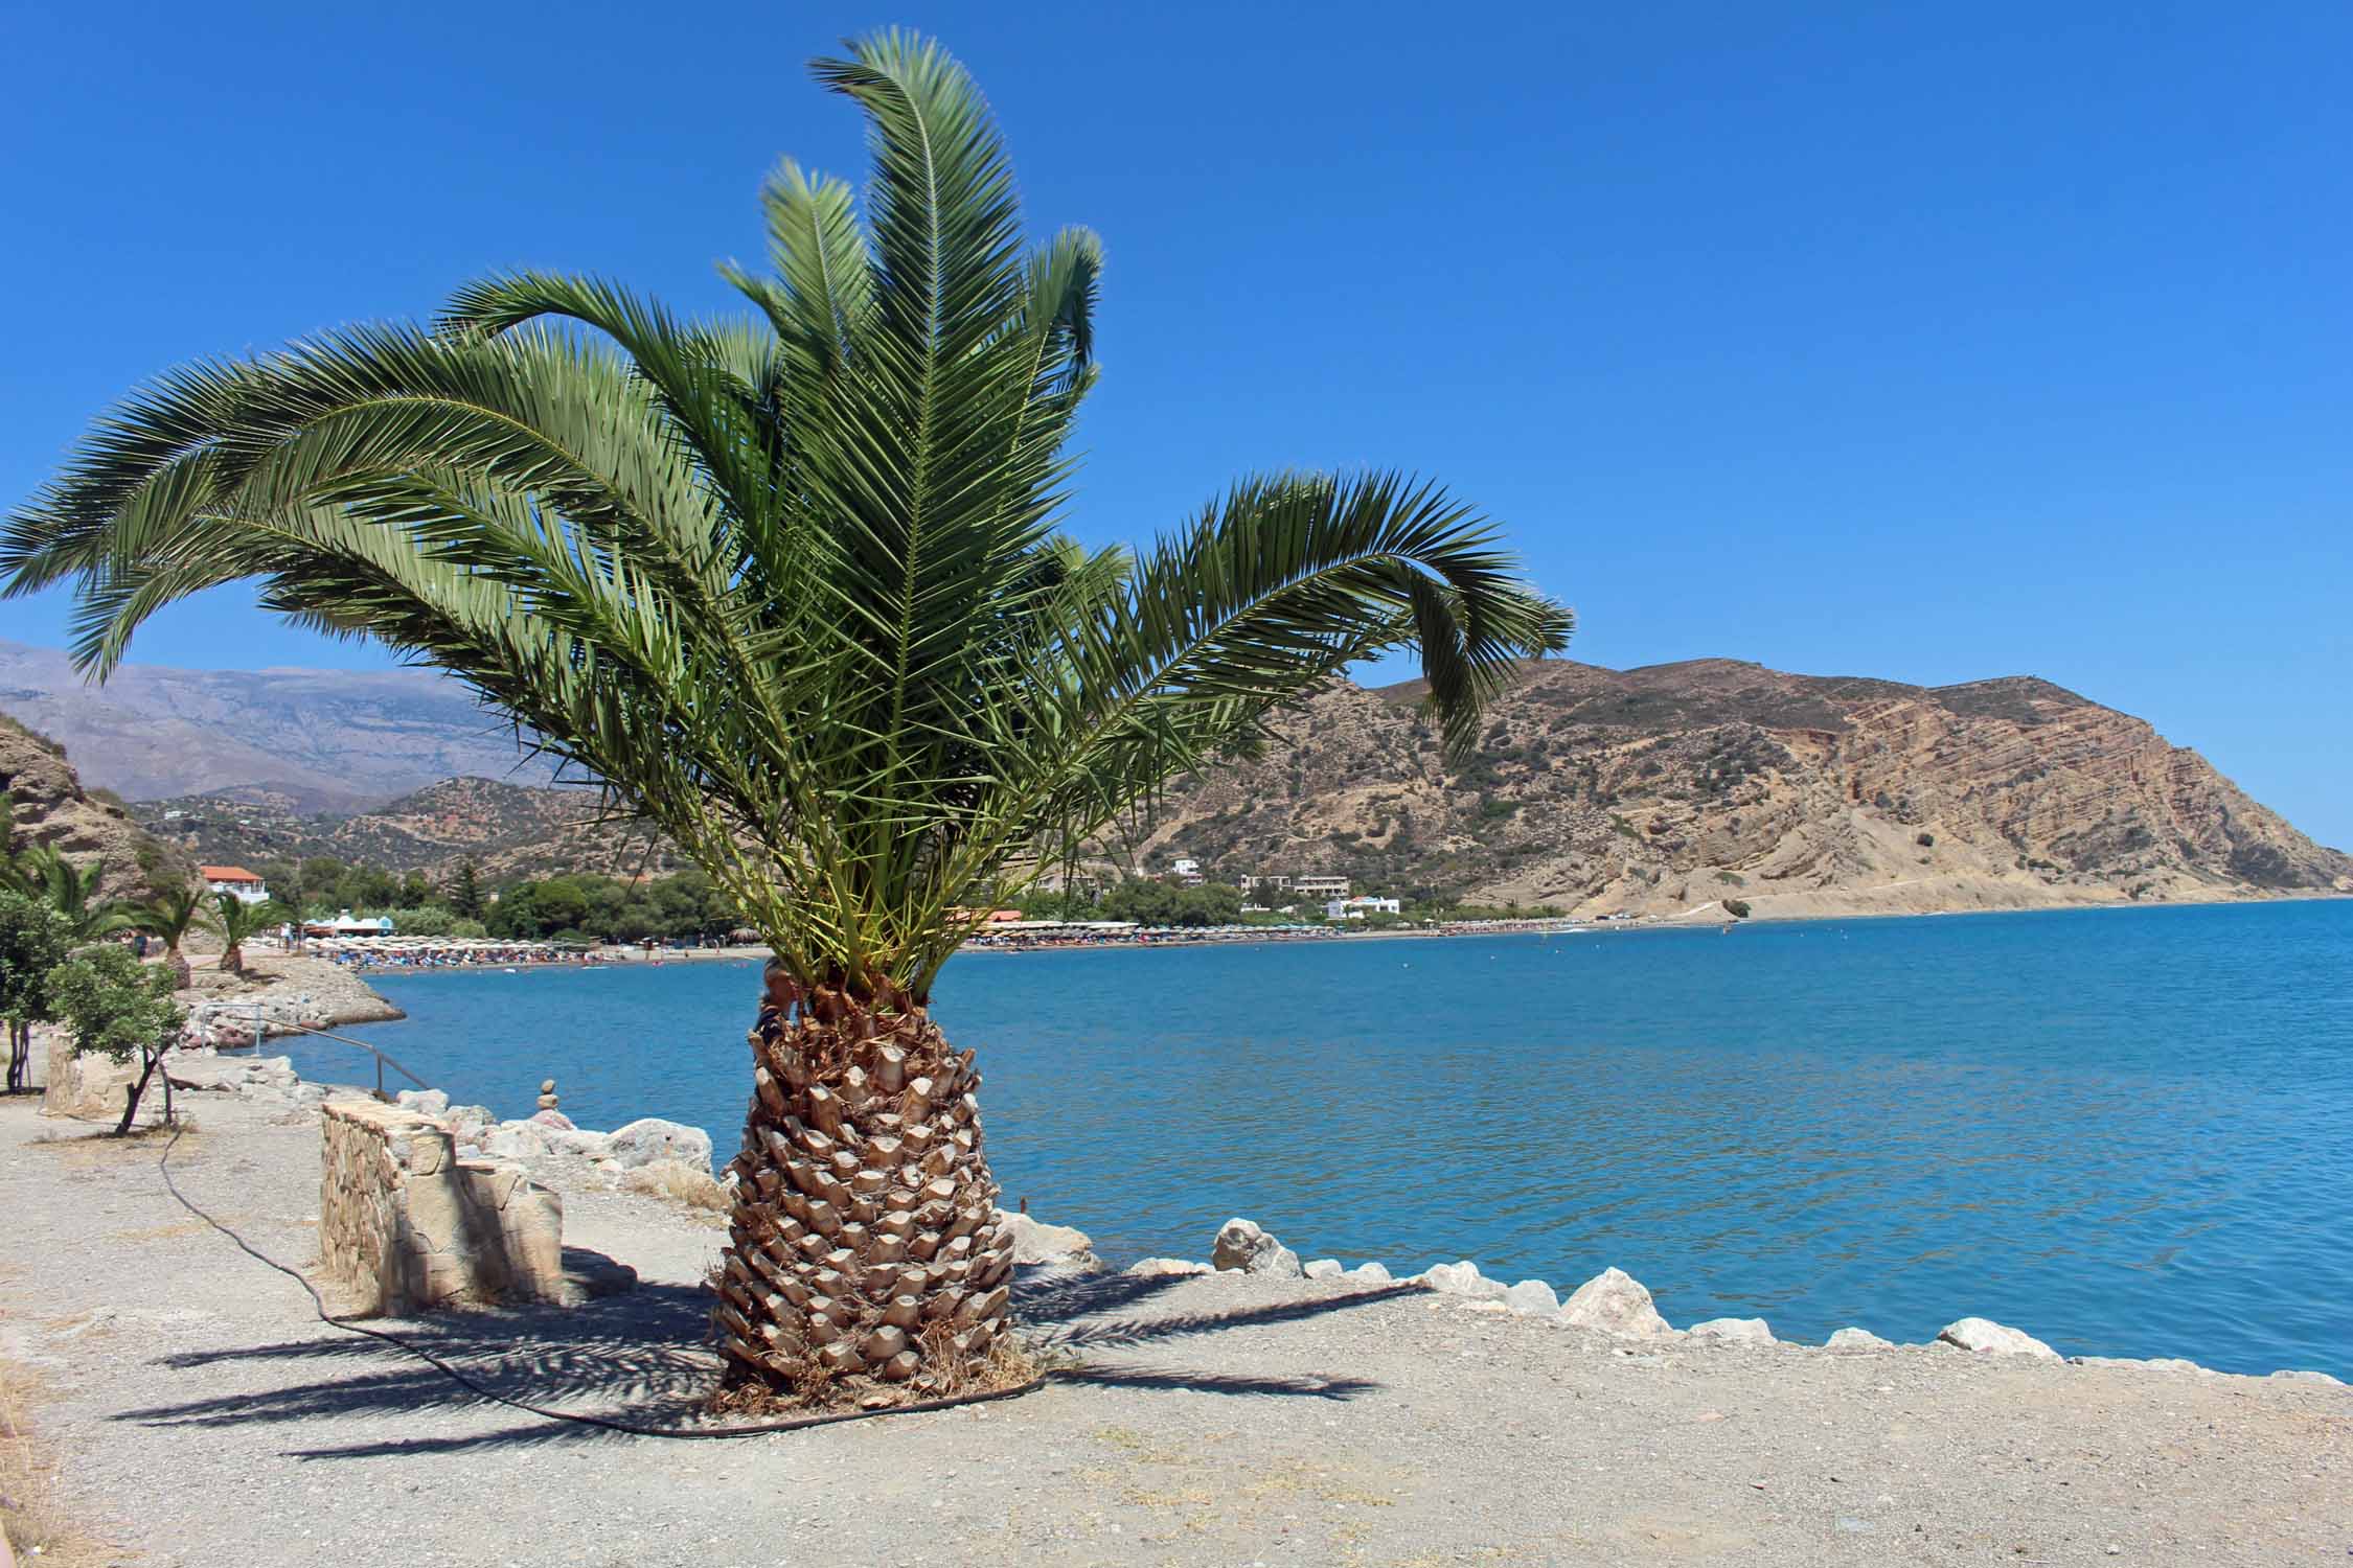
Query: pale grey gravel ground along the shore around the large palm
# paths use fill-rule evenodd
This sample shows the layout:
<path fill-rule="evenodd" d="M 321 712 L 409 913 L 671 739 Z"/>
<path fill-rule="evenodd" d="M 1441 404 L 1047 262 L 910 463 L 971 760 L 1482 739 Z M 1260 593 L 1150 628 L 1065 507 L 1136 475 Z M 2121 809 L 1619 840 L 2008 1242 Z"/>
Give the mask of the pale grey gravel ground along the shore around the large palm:
<path fill-rule="evenodd" d="M 315 1255 L 318 1119 L 191 1093 L 188 1197 Z M 480 1401 L 325 1328 L 181 1211 L 158 1140 L 0 1105 L 0 1352 L 139 1563 L 2306 1563 L 2353 1552 L 2353 1389 L 1955 1349 L 1626 1342 L 1414 1286 L 1033 1284 L 1071 1368 L 995 1406 L 744 1441 Z M 539 1401 L 685 1410 L 720 1232 L 567 1194 L 640 1269 L 576 1312 L 395 1324 Z M 1207 1237 L 1202 1239 L 1207 1248 Z"/>

